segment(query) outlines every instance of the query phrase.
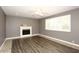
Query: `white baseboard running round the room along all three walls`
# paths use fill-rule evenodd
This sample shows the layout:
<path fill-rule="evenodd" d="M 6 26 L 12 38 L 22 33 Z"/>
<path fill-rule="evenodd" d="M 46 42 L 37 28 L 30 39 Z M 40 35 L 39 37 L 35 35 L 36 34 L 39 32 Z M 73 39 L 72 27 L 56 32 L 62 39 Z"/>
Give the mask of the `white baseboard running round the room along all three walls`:
<path fill-rule="evenodd" d="M 57 42 L 57 43 L 60 43 L 62 45 L 65 45 L 65 46 L 68 46 L 68 47 L 72 47 L 74 49 L 77 49 L 79 50 L 79 45 L 78 44 L 75 44 L 75 43 L 71 43 L 71 42 L 68 42 L 68 41 L 64 41 L 64 40 L 61 40 L 61 39 L 58 39 L 58 38 L 53 38 L 53 37 L 50 37 L 50 36 L 47 36 L 47 35 L 43 35 L 43 34 L 33 34 L 32 36 L 40 36 L 40 37 L 43 37 L 43 38 L 46 38 L 46 39 L 49 39 L 51 41 L 54 41 L 54 42 Z M 29 36 L 29 37 L 32 37 L 32 36 Z M 19 38 L 26 38 L 26 37 L 11 37 L 11 38 L 6 38 L 6 40 L 11 40 L 11 39 L 19 39 Z M 1 47 L 4 45 L 5 41 L 3 42 L 3 44 L 1 45 Z M 1 49 L 0 47 L 0 49 Z"/>

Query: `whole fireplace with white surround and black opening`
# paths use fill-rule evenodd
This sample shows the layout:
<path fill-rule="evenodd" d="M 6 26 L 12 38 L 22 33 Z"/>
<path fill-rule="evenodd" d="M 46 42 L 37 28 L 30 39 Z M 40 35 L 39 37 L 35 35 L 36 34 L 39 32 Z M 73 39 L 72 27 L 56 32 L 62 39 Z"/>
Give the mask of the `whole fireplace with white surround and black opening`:
<path fill-rule="evenodd" d="M 20 27 L 20 36 L 31 36 L 32 35 L 32 27 L 21 26 Z"/>

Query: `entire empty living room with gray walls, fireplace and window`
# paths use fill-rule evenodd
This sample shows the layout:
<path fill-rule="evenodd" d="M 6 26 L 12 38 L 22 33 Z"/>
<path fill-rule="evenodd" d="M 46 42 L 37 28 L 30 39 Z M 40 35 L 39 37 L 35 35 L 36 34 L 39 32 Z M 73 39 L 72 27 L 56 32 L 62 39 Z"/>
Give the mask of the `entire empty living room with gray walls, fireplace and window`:
<path fill-rule="evenodd" d="M 1 53 L 79 53 L 78 6 L 0 6 Z"/>

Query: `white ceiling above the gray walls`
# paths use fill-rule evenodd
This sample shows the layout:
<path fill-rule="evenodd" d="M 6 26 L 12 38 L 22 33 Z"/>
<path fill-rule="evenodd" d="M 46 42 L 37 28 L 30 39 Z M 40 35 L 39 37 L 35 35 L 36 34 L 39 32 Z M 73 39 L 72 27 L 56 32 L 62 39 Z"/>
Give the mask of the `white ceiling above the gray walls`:
<path fill-rule="evenodd" d="M 61 12 L 79 8 L 78 6 L 2 6 L 6 15 L 40 19 Z"/>

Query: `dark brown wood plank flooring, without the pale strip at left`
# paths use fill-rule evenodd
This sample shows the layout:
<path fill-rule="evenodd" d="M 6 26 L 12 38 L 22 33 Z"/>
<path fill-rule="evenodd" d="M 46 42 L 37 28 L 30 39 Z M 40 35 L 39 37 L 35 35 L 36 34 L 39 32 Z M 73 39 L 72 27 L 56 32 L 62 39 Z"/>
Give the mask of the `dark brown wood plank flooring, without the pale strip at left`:
<path fill-rule="evenodd" d="M 42 37 L 12 40 L 12 53 L 78 53 L 79 50 L 55 43 Z"/>

